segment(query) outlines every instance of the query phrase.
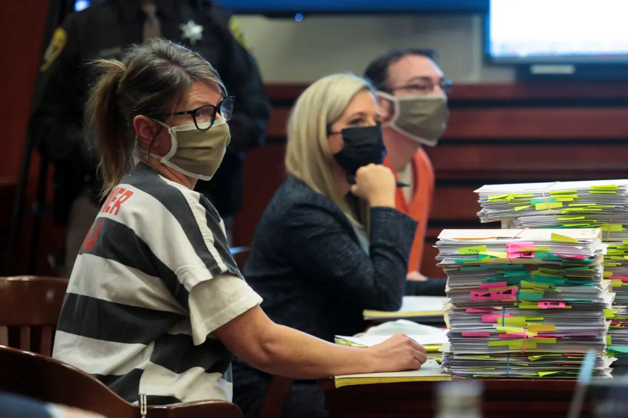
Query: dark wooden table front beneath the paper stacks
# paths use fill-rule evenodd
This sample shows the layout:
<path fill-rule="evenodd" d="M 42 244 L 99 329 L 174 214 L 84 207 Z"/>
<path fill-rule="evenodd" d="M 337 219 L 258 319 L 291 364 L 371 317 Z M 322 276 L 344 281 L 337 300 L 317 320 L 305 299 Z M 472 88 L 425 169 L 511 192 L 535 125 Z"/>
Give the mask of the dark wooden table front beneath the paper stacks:
<path fill-rule="evenodd" d="M 335 388 L 320 380 L 330 418 L 434 418 L 435 388 L 440 382 L 389 383 Z M 565 418 L 573 380 L 482 380 L 483 418 Z M 585 402 L 580 417 L 590 417 Z"/>

